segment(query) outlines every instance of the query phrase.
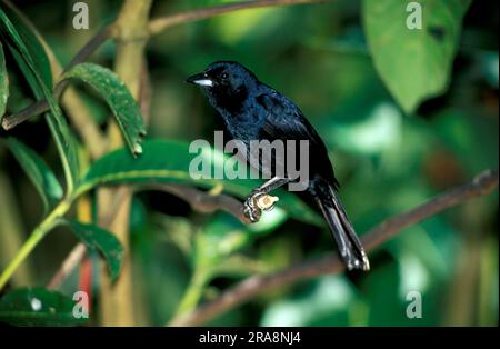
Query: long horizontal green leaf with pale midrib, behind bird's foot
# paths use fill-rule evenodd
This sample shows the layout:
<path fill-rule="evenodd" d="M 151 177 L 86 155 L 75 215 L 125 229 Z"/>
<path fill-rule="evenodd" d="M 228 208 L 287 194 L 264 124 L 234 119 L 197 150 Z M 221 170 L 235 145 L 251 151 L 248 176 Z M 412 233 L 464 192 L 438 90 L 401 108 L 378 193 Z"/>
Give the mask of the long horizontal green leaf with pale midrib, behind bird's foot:
<path fill-rule="evenodd" d="M 262 183 L 256 179 L 217 179 L 190 176 L 191 161 L 198 153 L 189 152 L 189 144 L 174 141 L 152 140 L 143 143 L 144 153 L 133 159 L 124 149 L 113 151 L 96 161 L 80 181 L 77 192 L 81 193 L 102 185 L 119 183 L 189 183 L 201 188 L 222 188 L 226 192 L 240 198 L 247 197 L 250 191 Z M 203 149 L 203 156 L 212 158 L 211 173 L 216 168 L 223 166 L 220 151 L 210 148 Z M 274 192 L 273 192 L 274 193 Z M 284 209 L 290 216 L 306 222 L 318 225 L 321 222 L 318 215 L 311 210 L 297 196 L 286 190 L 276 191 L 279 197 L 278 208 Z M 267 215 L 268 212 L 264 212 Z M 270 212 L 271 213 L 271 212 Z"/>

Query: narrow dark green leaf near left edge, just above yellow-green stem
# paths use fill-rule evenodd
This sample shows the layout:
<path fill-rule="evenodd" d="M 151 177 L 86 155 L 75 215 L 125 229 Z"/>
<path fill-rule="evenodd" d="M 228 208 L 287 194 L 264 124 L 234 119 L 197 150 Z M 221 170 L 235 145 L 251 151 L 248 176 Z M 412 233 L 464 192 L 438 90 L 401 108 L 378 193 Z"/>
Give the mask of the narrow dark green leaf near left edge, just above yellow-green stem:
<path fill-rule="evenodd" d="M 54 207 L 63 192 L 51 169 L 33 150 L 14 138 L 8 138 L 6 143 L 42 198 L 44 209 Z"/>

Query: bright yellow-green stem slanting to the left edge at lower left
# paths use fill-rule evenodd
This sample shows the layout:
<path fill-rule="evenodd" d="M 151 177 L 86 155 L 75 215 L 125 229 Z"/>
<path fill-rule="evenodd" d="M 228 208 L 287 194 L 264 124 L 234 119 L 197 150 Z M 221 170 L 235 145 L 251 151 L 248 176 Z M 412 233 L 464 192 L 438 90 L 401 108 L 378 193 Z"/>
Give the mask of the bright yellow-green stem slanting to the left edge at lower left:
<path fill-rule="evenodd" d="M 28 240 L 22 245 L 18 253 L 10 261 L 3 272 L 0 275 L 0 290 L 9 281 L 12 273 L 24 261 L 24 259 L 31 253 L 34 247 L 43 239 L 43 237 L 52 229 L 59 218 L 61 218 L 71 207 L 72 199 L 64 199 L 47 216 L 40 225 L 34 228 Z"/>

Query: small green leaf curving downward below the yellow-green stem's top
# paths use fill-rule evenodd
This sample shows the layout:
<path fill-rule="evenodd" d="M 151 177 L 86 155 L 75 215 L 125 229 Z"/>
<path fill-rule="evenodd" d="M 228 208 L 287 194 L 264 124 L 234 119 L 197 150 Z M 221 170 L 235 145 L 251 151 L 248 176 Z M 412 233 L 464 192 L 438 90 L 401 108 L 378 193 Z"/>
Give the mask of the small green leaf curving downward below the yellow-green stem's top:
<path fill-rule="evenodd" d="M 74 231 L 74 235 L 90 248 L 98 250 L 108 262 L 111 280 L 120 275 L 123 261 L 123 246 L 118 238 L 98 226 L 82 223 L 76 220 L 66 221 Z"/>

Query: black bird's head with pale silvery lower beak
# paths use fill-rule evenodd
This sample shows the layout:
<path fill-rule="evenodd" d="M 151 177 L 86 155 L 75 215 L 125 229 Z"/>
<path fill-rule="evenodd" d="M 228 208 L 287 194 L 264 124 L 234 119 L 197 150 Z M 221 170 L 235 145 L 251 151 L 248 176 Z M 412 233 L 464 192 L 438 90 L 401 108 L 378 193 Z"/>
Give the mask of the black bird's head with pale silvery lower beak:
<path fill-rule="evenodd" d="M 250 70 L 232 61 L 213 62 L 186 81 L 202 87 L 218 107 L 246 99 L 258 86 L 257 77 Z"/>

